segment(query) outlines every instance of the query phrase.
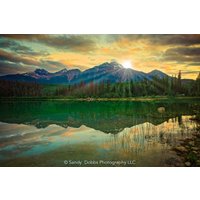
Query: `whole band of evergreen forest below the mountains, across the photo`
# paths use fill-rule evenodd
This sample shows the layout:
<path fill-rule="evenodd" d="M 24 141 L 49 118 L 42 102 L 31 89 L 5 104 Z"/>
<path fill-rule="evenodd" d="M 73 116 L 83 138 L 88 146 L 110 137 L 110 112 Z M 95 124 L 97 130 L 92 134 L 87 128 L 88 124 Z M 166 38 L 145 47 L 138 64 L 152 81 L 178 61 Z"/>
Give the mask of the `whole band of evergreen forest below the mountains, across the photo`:
<path fill-rule="evenodd" d="M 178 77 L 153 77 L 151 80 L 140 82 L 110 83 L 102 82 L 86 84 L 81 82 L 75 85 L 57 85 L 51 92 L 47 92 L 46 85 L 17 81 L 0 81 L 0 96 L 5 97 L 42 97 L 64 96 L 73 98 L 126 98 L 136 96 L 200 96 L 200 75 L 189 83 L 181 81 L 181 72 Z"/>

